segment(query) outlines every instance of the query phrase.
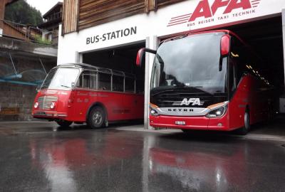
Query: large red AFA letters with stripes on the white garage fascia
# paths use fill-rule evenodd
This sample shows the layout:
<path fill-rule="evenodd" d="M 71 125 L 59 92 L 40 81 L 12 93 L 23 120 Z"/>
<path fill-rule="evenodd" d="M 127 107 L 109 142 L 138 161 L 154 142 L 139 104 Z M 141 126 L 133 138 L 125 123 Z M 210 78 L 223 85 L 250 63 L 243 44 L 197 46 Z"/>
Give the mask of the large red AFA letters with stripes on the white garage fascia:
<path fill-rule="evenodd" d="M 197 18 L 213 18 L 214 16 L 217 16 L 218 10 L 222 11 L 222 15 L 219 16 L 228 16 L 237 10 L 249 10 L 257 8 L 260 1 L 261 0 L 214 0 L 214 2 L 210 4 L 209 0 L 201 0 L 191 14 L 172 17 L 167 26 L 175 26 L 182 23 L 193 22 L 196 21 Z M 252 12 L 254 11 L 251 11 L 251 13 Z"/>

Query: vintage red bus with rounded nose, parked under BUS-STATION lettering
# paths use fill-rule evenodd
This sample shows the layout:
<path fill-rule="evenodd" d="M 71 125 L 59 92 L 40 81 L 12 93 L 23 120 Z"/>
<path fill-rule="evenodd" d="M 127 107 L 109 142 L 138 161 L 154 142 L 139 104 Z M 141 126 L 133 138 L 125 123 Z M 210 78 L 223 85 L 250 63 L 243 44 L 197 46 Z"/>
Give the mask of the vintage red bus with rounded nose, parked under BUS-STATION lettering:
<path fill-rule="evenodd" d="M 87 64 L 53 68 L 36 95 L 33 117 L 98 128 L 108 122 L 143 119 L 144 96 L 135 75 Z"/>

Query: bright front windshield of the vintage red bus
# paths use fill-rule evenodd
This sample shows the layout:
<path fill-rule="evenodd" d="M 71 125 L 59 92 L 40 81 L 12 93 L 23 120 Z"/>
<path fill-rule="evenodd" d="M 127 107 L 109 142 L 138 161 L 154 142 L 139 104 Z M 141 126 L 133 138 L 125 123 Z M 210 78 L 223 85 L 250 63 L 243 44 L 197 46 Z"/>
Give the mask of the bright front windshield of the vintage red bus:
<path fill-rule="evenodd" d="M 41 85 L 43 89 L 71 90 L 72 84 L 76 82 L 79 69 L 56 68 L 48 73 L 46 80 Z"/>

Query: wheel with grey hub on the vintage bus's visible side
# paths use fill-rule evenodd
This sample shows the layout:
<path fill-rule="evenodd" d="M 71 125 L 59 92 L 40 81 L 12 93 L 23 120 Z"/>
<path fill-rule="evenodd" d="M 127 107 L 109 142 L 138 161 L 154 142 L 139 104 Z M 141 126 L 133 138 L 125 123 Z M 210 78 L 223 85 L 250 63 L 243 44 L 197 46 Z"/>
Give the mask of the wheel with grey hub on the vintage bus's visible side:
<path fill-rule="evenodd" d="M 92 129 L 103 127 L 105 123 L 105 112 L 101 107 L 94 107 L 88 117 L 88 126 Z"/>

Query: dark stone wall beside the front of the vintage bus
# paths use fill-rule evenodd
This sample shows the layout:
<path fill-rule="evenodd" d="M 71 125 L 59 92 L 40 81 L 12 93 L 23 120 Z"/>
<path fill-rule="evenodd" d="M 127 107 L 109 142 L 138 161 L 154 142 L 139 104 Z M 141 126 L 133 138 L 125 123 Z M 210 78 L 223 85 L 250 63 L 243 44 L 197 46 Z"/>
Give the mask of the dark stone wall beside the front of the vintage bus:
<path fill-rule="evenodd" d="M 56 57 L 46 58 L 39 55 L 0 50 L 0 106 L 2 108 L 0 121 L 33 119 L 31 109 L 36 96 L 36 84 L 40 84 L 46 77 L 45 70 L 48 73 L 54 66 L 56 66 Z M 19 109 L 19 114 L 4 112 L 9 109 Z"/>

